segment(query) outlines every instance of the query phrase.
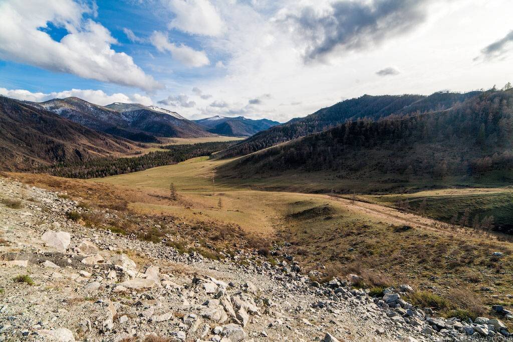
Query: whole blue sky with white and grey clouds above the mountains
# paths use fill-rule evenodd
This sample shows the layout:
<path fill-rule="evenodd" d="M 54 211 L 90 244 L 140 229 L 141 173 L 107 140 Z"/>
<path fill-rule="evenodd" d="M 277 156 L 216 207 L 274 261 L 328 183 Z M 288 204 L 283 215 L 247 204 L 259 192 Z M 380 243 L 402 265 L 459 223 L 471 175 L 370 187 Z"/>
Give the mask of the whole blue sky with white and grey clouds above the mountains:
<path fill-rule="evenodd" d="M 511 0 L 0 0 L 0 94 L 286 122 L 513 82 Z"/>

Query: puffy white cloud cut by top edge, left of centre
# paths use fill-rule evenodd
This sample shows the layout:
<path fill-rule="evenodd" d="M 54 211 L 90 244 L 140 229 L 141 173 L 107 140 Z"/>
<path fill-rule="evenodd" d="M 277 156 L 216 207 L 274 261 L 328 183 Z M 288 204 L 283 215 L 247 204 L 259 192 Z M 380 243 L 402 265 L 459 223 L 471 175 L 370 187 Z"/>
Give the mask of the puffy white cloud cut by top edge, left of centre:
<path fill-rule="evenodd" d="M 166 0 L 165 4 L 175 15 L 169 28 L 206 36 L 223 32 L 223 21 L 208 0 Z"/>

